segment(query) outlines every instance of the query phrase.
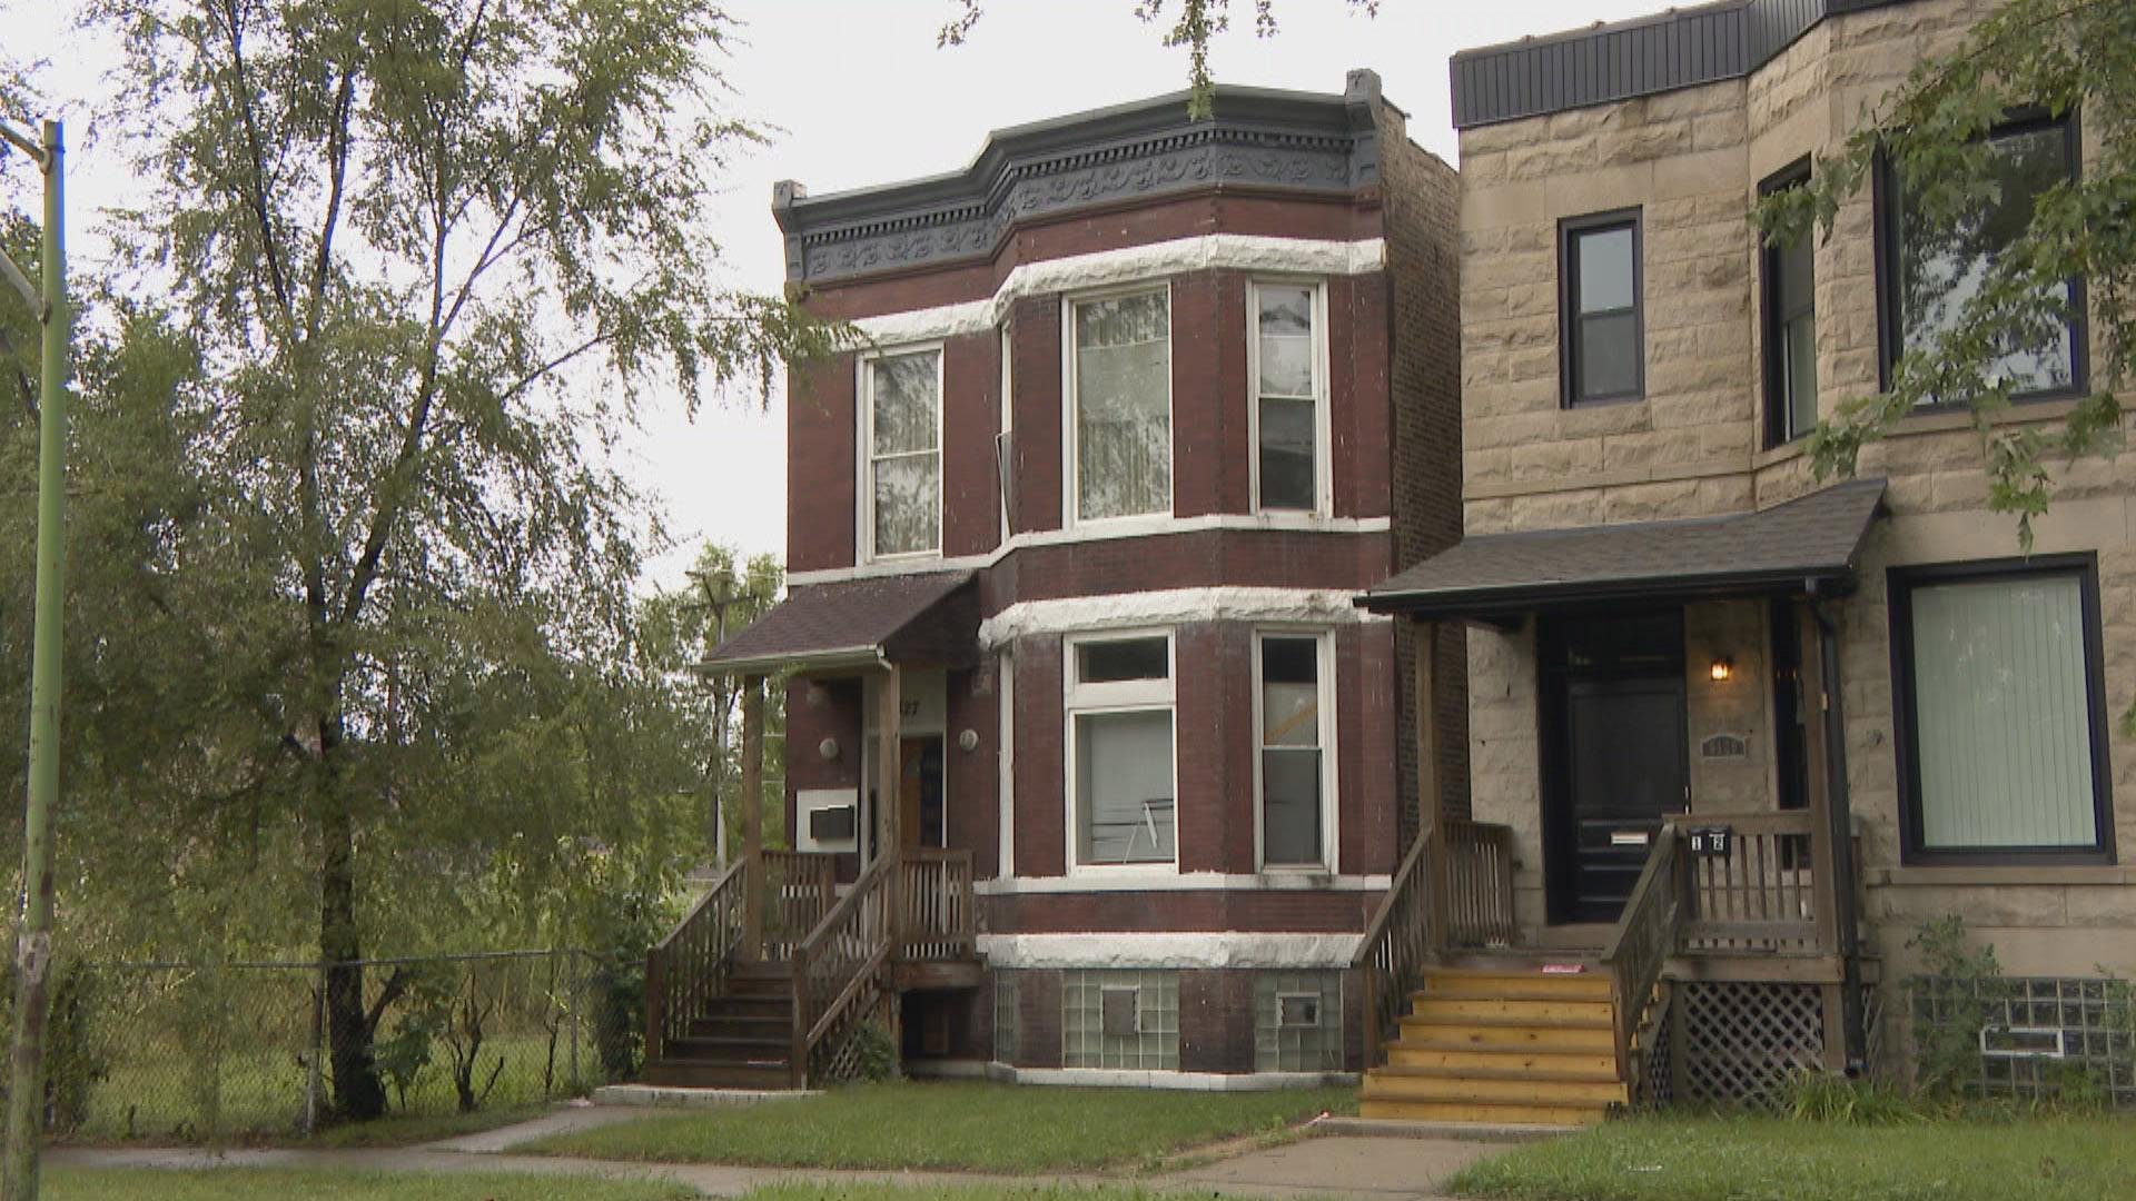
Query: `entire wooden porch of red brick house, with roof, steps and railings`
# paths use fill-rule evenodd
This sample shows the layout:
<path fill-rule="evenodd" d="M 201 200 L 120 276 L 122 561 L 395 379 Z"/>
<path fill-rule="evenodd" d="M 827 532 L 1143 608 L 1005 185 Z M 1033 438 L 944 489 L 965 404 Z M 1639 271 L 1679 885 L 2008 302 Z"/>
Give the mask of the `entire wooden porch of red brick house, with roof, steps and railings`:
<path fill-rule="evenodd" d="M 741 680 L 741 853 L 647 955 L 645 1079 L 812 1088 L 861 1071 L 863 1028 L 899 1043 L 904 998 L 985 981 L 974 855 L 946 848 L 944 731 L 908 737 L 908 692 L 974 658 L 968 575 L 797 592 L 722 643 L 707 673 Z M 867 720 L 848 789 L 795 808 L 803 851 L 765 846 L 763 692 L 771 673 L 863 684 Z M 788 759 L 788 769 L 790 769 Z M 931 806 L 929 806 L 931 797 Z M 931 814 L 931 823 L 927 821 Z"/>

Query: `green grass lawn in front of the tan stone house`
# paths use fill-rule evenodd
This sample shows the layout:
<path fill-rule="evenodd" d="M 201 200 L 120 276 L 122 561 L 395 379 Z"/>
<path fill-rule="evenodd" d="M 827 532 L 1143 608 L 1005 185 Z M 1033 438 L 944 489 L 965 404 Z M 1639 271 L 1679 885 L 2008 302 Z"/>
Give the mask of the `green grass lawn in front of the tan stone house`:
<path fill-rule="evenodd" d="M 2136 1120 L 1638 1118 L 1480 1160 L 1450 1188 L 1510 1201 L 2104 1201 L 2136 1197 Z"/>

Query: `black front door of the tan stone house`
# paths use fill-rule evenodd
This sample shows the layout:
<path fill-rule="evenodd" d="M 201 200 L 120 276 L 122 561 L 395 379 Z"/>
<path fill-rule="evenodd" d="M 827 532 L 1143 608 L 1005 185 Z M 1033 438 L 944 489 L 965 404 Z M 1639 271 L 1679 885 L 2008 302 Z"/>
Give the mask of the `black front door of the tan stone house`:
<path fill-rule="evenodd" d="M 1551 921 L 1617 921 L 1690 801 L 1679 611 L 1553 622 L 1542 641 Z"/>

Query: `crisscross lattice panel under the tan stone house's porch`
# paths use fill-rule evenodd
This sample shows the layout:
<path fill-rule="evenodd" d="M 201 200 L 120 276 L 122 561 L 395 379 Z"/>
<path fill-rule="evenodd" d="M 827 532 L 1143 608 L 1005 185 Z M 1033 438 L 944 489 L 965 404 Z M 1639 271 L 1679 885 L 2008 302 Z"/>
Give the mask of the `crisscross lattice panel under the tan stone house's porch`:
<path fill-rule="evenodd" d="M 1781 1109 L 1788 1079 L 1824 1064 L 1816 985 L 1683 981 L 1670 1017 L 1683 1024 L 1675 1101 Z"/>

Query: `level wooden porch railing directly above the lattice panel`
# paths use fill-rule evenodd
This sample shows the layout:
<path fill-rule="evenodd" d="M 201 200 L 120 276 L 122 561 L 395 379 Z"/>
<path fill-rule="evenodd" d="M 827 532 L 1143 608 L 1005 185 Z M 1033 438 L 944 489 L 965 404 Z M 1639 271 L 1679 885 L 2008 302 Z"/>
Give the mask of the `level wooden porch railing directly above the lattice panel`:
<path fill-rule="evenodd" d="M 1813 816 L 1794 812 L 1670 816 L 1679 846 L 1687 827 L 1728 829 L 1726 855 L 1685 857 L 1683 949 L 1831 951 L 1824 895 L 1831 870 Z"/>

